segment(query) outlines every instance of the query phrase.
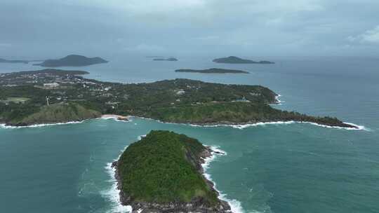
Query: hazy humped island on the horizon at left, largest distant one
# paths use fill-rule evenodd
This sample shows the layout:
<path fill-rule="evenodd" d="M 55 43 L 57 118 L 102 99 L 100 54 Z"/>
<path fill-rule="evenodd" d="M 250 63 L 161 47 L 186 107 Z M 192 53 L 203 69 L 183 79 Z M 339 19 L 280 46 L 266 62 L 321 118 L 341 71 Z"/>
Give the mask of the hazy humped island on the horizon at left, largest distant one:
<path fill-rule="evenodd" d="M 46 60 L 40 64 L 41 67 L 84 67 L 92 64 L 107 63 L 101 57 L 85 57 L 83 55 L 67 55 L 58 60 Z"/>

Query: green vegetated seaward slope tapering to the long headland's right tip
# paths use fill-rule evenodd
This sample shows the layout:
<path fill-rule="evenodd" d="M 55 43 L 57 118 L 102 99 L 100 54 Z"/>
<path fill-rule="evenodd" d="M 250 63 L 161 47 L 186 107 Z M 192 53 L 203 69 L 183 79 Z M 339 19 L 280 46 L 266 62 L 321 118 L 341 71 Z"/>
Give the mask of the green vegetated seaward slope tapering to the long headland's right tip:
<path fill-rule="evenodd" d="M 142 116 L 159 121 L 195 124 L 239 124 L 272 121 L 301 121 L 350 127 L 337 118 L 314 117 L 296 112 L 281 111 L 267 104 L 249 102 L 209 103 L 201 106 L 161 107 L 147 111 Z"/>

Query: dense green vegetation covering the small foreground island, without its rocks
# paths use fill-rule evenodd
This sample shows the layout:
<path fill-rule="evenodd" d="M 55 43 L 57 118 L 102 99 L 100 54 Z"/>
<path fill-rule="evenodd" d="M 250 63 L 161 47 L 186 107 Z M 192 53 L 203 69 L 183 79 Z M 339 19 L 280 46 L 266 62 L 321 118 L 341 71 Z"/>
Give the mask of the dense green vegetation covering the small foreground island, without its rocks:
<path fill-rule="evenodd" d="M 218 204 L 197 166 L 204 147 L 197 139 L 168 131 L 152 131 L 128 146 L 117 163 L 121 190 L 136 202 L 191 202 L 203 198 Z"/>

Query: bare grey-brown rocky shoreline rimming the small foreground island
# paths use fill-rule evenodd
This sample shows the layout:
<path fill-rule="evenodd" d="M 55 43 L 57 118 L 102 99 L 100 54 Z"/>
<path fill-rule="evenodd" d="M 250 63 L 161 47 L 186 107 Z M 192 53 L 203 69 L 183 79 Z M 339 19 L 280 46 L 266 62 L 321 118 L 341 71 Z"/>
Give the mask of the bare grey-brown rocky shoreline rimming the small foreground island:
<path fill-rule="evenodd" d="M 195 167 L 198 172 L 203 174 L 204 177 L 204 168 L 202 164 L 206 162 L 206 158 L 211 158 L 212 153 L 220 153 L 218 151 L 213 151 L 211 147 L 205 146 L 206 149 L 200 154 L 198 159 L 192 159 L 196 163 Z M 223 154 L 223 153 L 220 153 Z M 130 195 L 127 195 L 122 191 L 122 183 L 119 176 L 119 170 L 117 169 L 118 161 L 114 161 L 112 163 L 112 167 L 115 169 L 114 177 L 117 179 L 117 188 L 120 190 L 119 197 L 122 205 L 130 205 L 133 209 L 132 213 L 168 213 L 168 212 L 177 212 L 177 213 L 187 213 L 187 212 L 199 212 L 199 213 L 231 213 L 230 205 L 224 201 L 219 200 L 219 204 L 215 207 L 208 207 L 202 198 L 194 199 L 191 202 L 169 202 L 165 204 L 154 203 L 154 202 L 139 202 L 134 200 Z M 213 187 L 213 182 L 209 181 L 204 177 L 206 184 L 208 184 L 209 188 L 215 193 L 218 191 Z"/>

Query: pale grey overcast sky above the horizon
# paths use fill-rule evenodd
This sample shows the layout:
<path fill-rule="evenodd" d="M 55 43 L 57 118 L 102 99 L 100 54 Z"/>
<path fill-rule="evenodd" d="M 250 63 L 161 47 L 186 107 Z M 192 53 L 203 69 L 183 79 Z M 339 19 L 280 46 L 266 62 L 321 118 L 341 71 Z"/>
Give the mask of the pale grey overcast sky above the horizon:
<path fill-rule="evenodd" d="M 378 0 L 1 0 L 0 55 L 378 56 Z"/>

